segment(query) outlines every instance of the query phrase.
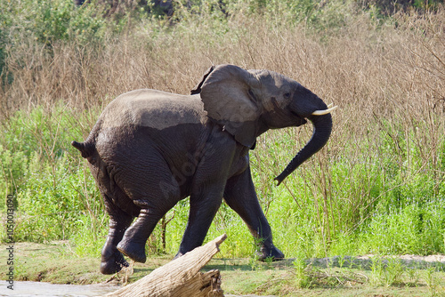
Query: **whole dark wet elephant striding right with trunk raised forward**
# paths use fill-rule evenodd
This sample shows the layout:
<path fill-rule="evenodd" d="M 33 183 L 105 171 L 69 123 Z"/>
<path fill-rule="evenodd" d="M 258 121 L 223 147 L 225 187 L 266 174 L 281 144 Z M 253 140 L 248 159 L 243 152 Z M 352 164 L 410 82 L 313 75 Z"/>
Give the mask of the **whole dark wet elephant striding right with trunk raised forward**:
<path fill-rule="evenodd" d="M 212 66 L 190 95 L 150 89 L 125 92 L 103 109 L 84 142 L 109 213 L 101 273 L 145 262 L 145 244 L 158 221 L 190 197 L 190 213 L 175 258 L 202 245 L 223 200 L 247 224 L 259 257 L 284 258 L 255 193 L 249 149 L 269 129 L 313 125 L 278 184 L 328 141 L 334 108 L 294 80 L 269 70 Z M 134 220 L 135 218 L 135 220 Z"/>

